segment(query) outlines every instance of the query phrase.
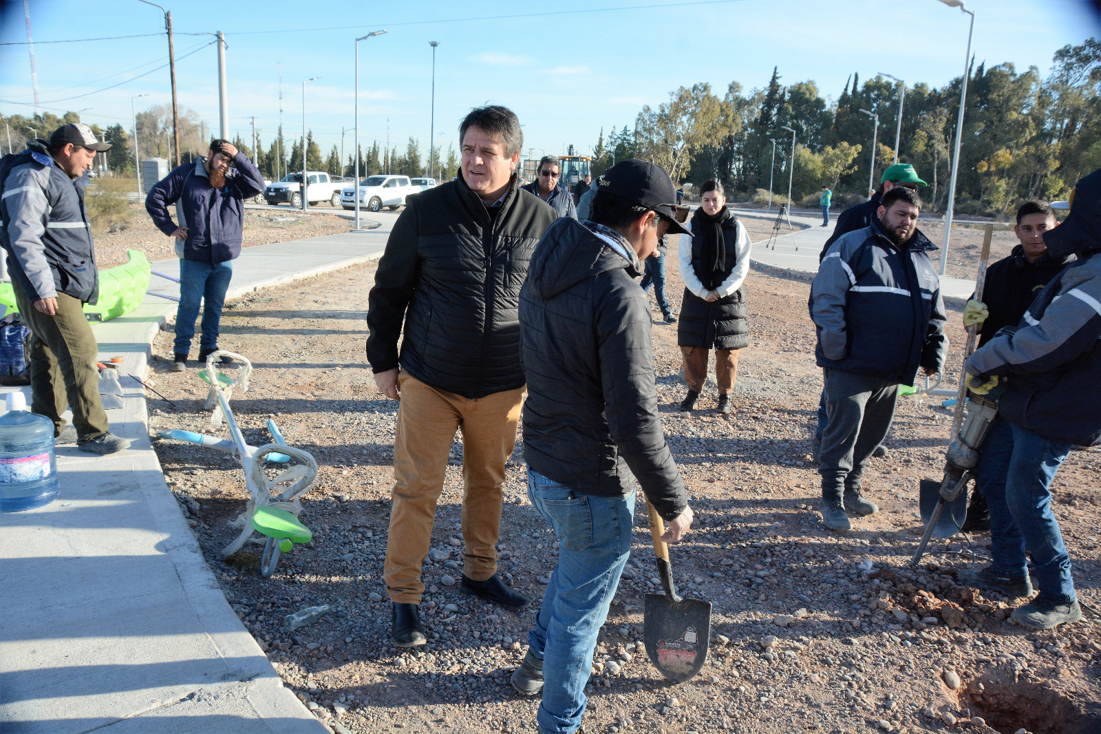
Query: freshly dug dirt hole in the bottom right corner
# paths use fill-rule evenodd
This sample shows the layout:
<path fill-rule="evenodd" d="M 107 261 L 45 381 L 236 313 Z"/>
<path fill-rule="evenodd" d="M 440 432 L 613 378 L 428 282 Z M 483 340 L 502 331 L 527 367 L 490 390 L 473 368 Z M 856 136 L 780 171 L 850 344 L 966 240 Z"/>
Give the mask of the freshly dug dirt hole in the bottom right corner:
<path fill-rule="evenodd" d="M 1076 701 L 1037 683 L 975 680 L 961 698 L 972 715 L 982 716 L 1001 734 L 1022 728 L 1029 734 L 1101 734 L 1101 705 Z"/>

